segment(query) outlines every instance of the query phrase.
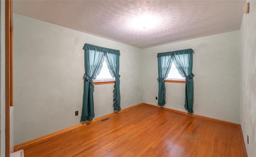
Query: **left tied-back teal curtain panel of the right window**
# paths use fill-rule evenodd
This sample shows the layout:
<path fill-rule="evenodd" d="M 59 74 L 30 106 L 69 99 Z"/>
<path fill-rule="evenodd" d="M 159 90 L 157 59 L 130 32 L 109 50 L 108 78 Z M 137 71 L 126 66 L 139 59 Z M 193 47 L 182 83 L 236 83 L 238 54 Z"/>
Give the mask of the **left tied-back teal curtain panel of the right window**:
<path fill-rule="evenodd" d="M 166 89 L 164 79 L 168 77 L 168 73 L 172 67 L 172 56 L 166 55 L 158 57 L 158 105 L 163 106 L 166 99 Z"/>

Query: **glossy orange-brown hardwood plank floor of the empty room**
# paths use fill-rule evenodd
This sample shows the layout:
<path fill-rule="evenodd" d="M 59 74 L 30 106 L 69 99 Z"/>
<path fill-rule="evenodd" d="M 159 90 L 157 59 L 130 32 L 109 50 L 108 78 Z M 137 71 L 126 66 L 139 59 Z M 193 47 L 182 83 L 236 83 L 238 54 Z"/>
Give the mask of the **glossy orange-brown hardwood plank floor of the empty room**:
<path fill-rule="evenodd" d="M 244 157 L 239 126 L 141 105 L 23 147 L 25 157 Z"/>

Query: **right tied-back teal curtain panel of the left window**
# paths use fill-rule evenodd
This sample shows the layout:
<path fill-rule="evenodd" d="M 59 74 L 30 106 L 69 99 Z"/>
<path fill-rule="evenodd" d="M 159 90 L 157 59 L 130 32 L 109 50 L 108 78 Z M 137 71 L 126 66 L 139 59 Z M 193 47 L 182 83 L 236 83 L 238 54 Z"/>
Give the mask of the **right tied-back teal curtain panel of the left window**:
<path fill-rule="evenodd" d="M 109 72 L 112 77 L 115 77 L 116 81 L 113 90 L 113 106 L 114 110 L 120 111 L 120 75 L 119 75 L 119 55 L 113 53 L 105 53 L 106 62 L 108 65 Z"/>

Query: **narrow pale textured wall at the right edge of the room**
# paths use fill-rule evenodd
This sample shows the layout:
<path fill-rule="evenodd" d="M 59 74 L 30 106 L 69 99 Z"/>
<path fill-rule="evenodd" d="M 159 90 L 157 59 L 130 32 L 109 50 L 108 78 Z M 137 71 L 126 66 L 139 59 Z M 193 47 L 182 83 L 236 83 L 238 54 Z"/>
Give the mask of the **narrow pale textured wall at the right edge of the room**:
<path fill-rule="evenodd" d="M 241 127 L 248 157 L 256 155 L 256 1 L 241 24 Z M 247 143 L 249 136 L 249 144 Z"/>

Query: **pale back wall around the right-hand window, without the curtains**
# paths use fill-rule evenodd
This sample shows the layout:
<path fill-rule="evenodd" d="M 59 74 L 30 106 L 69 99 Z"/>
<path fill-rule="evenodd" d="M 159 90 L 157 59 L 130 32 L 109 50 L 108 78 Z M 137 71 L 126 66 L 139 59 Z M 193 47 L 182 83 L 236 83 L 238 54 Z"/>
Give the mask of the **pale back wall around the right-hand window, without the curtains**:
<path fill-rule="evenodd" d="M 143 102 L 157 105 L 157 53 L 194 49 L 194 114 L 240 124 L 239 31 L 143 49 Z M 184 109 L 185 84 L 166 84 L 166 108 Z"/>

